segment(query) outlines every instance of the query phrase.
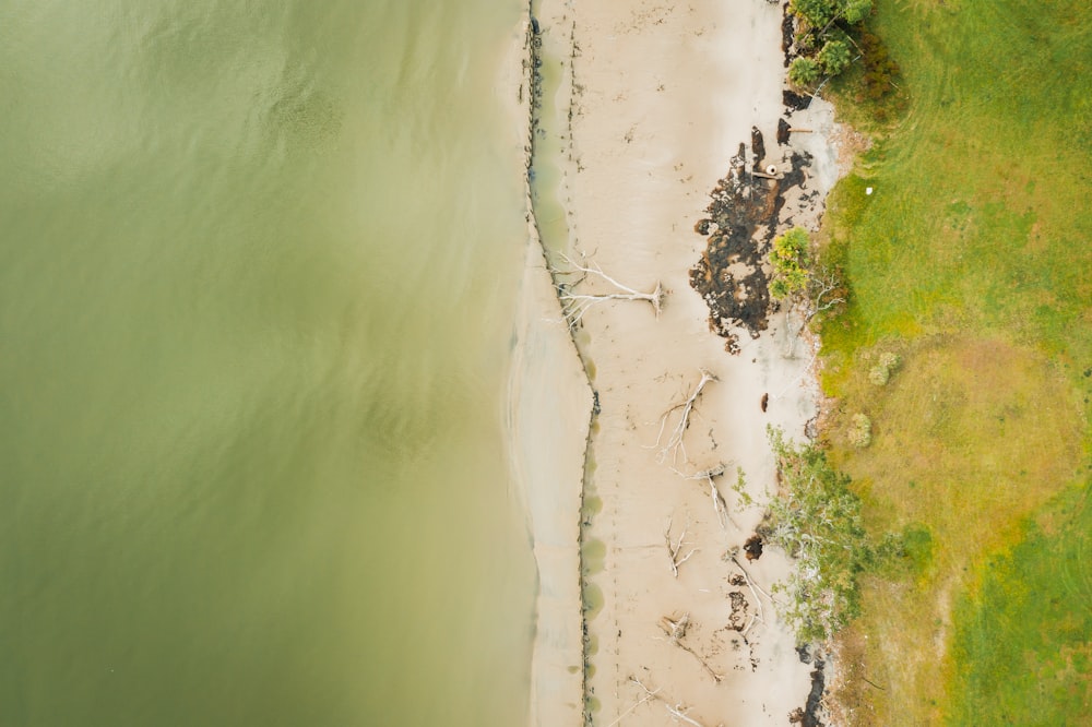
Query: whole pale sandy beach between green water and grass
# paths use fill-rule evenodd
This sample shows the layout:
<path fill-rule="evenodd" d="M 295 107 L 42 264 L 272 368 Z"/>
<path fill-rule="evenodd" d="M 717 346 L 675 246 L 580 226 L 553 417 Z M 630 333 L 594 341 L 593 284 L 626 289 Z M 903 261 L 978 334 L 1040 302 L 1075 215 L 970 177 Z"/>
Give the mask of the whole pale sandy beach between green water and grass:
<path fill-rule="evenodd" d="M 788 147 L 772 143 L 785 115 L 781 20 L 779 5 L 757 0 L 543 3 L 543 52 L 562 60 L 557 105 L 571 120 L 550 130 L 567 150 L 560 247 L 628 286 L 652 290 L 658 282 L 670 293 L 658 319 L 648 303 L 622 300 L 594 305 L 582 318 L 577 341 L 598 415 L 580 525 L 581 493 L 566 478 L 583 468 L 590 392 L 543 261 L 529 254 L 527 311 L 537 306 L 538 314 L 523 318 L 513 401 L 543 585 L 535 725 L 581 724 L 581 705 L 601 726 L 663 725 L 679 715 L 708 727 L 784 725 L 811 690 L 812 666 L 802 663 L 763 593 L 788 562 L 769 548 L 744 559 L 762 512 L 743 506 L 731 484 L 741 470 L 759 503 L 774 488 L 765 428 L 803 438 L 816 413 L 814 351 L 793 335 L 798 321 L 775 314 L 765 333 L 744 334 L 741 350 L 727 354 L 688 283 L 705 245 L 693 225 L 751 128 L 771 140 L 771 160 L 787 159 Z M 794 133 L 791 144 L 816 157 L 809 192 L 821 200 L 836 178 L 829 107 L 797 111 L 792 122 L 812 130 Z M 815 227 L 816 205 L 815 196 L 788 200 L 782 216 Z M 594 275 L 573 289 L 617 291 Z M 663 417 L 687 400 L 702 369 L 716 380 L 696 402 L 684 448 L 668 448 L 679 412 L 661 434 Z M 556 431 L 544 430 L 542 416 L 521 419 L 536 407 L 548 408 Z M 721 465 L 713 486 L 727 517 L 714 510 L 708 480 L 687 478 Z M 672 538 L 686 527 L 679 555 L 693 550 L 677 575 L 668 522 Z M 583 671 L 574 672 L 581 623 L 571 611 L 581 591 L 573 569 L 581 565 L 586 636 Z M 665 618 L 684 617 L 688 629 L 673 641 Z"/>

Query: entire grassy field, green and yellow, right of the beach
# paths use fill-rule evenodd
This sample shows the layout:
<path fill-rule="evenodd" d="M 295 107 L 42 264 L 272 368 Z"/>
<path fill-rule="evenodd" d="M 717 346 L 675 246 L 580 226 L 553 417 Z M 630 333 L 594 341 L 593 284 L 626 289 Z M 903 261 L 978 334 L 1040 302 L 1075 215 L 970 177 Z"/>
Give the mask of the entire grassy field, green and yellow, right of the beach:
<path fill-rule="evenodd" d="M 882 126 L 853 73 L 834 90 L 877 141 L 829 200 L 824 255 L 852 296 L 821 330 L 824 431 L 869 527 L 927 532 L 929 548 L 913 575 L 866 581 L 840 698 L 858 724 L 1081 724 L 1092 5 L 877 5 L 902 75 Z M 902 364 L 878 385 L 883 353 Z M 847 443 L 858 413 L 864 450 Z"/>

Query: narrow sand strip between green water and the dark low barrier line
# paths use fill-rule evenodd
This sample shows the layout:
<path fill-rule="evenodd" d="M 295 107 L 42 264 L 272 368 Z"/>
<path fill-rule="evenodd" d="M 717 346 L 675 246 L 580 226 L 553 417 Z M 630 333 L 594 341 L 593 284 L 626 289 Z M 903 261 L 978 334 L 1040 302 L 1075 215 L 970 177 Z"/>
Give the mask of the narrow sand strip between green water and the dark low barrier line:
<path fill-rule="evenodd" d="M 506 63 L 502 88 L 518 87 L 517 136 L 527 237 L 509 374 L 512 472 L 519 484 L 537 570 L 529 720 L 535 727 L 577 725 L 583 703 L 580 524 L 592 392 L 546 262 L 533 202 L 536 35 L 521 22 L 518 57 Z"/>

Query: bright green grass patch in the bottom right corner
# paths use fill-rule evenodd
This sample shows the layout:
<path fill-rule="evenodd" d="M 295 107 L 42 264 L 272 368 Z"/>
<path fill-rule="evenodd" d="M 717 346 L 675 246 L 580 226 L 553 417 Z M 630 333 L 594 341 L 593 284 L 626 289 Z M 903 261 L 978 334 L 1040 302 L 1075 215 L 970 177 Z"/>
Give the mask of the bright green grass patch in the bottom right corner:
<path fill-rule="evenodd" d="M 1092 508 L 1067 493 L 1051 523 L 989 559 L 956 609 L 947 722 L 1072 725 L 1092 706 Z M 1059 528 L 1069 534 L 1058 537 Z M 1078 719 L 1081 717 L 1081 719 Z"/>

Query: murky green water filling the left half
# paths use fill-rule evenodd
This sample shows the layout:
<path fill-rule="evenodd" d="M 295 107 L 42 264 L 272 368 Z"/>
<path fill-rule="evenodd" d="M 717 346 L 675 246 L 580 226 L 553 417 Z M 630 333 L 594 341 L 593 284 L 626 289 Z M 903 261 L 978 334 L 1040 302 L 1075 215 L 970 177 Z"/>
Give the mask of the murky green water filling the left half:
<path fill-rule="evenodd" d="M 525 724 L 522 10 L 0 3 L 0 726 Z"/>

